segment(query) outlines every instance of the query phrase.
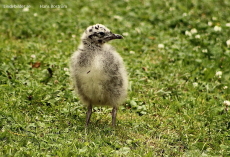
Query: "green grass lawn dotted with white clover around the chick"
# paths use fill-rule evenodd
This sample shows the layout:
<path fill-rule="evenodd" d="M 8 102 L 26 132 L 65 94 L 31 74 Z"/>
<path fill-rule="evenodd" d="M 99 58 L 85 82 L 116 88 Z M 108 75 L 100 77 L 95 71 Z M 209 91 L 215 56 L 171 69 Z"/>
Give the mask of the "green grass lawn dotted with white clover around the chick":
<path fill-rule="evenodd" d="M 7 8 L 7 5 L 28 5 Z M 2 0 L 0 156 L 229 156 L 230 1 Z M 111 127 L 89 128 L 68 64 L 86 27 L 102 23 L 129 72 Z"/>

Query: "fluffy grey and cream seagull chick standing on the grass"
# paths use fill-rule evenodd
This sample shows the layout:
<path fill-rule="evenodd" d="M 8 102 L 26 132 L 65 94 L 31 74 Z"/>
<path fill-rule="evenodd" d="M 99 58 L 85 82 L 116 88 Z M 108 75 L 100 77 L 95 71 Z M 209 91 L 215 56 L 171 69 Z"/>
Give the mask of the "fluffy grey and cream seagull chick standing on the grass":
<path fill-rule="evenodd" d="M 74 89 L 88 107 L 86 125 L 94 105 L 113 107 L 112 125 L 116 124 L 118 106 L 127 96 L 128 78 L 121 56 L 106 42 L 122 38 L 101 24 L 89 26 L 71 57 Z"/>

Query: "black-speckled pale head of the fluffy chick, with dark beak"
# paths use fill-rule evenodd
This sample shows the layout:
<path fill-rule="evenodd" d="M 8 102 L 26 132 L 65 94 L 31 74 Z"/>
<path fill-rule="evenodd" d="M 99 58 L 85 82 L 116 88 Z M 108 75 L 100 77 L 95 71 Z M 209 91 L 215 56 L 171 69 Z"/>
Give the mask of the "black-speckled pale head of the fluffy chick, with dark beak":
<path fill-rule="evenodd" d="M 95 44 L 104 44 L 113 39 L 123 39 L 122 35 L 113 34 L 107 27 L 102 24 L 96 24 L 89 26 L 84 34 L 82 35 L 82 40 L 90 41 Z"/>

